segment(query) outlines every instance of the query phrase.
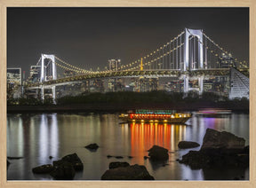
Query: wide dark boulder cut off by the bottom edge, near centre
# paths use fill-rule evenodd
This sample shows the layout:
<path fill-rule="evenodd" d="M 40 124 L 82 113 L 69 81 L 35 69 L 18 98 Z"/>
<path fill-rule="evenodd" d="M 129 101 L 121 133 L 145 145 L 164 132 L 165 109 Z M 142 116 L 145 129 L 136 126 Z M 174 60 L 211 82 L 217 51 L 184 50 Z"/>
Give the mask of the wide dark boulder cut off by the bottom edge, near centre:
<path fill-rule="evenodd" d="M 101 180 L 154 180 L 154 177 L 149 175 L 147 168 L 136 164 L 108 169 Z"/>

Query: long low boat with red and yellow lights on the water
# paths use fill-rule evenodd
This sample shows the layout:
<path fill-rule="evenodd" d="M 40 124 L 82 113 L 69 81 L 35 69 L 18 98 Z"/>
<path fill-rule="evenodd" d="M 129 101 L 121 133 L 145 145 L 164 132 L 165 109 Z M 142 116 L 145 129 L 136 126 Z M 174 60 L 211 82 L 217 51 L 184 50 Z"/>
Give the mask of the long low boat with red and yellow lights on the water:
<path fill-rule="evenodd" d="M 191 116 L 190 113 L 176 113 L 174 110 L 141 109 L 128 114 L 120 114 L 119 118 L 126 122 L 185 123 Z"/>

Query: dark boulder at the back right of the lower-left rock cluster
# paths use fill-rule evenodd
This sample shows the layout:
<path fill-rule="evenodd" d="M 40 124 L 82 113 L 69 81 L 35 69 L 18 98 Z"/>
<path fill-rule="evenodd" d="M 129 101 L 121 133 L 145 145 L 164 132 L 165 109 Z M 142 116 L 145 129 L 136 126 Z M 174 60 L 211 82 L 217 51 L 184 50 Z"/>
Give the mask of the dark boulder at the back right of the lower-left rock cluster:
<path fill-rule="evenodd" d="M 76 153 L 68 154 L 65 157 L 63 157 L 60 161 L 53 161 L 53 167 L 58 167 L 62 165 L 64 161 L 70 162 L 76 171 L 84 169 L 84 164 Z"/>

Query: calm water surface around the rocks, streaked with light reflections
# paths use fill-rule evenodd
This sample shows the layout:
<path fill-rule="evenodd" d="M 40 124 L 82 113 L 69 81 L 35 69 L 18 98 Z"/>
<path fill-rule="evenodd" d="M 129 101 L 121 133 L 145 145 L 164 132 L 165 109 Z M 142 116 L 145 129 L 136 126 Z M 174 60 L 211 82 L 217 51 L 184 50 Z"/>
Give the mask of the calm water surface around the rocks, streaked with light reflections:
<path fill-rule="evenodd" d="M 249 179 L 248 168 L 192 170 L 176 161 L 190 150 L 180 150 L 178 143 L 188 140 L 201 145 L 207 128 L 226 130 L 244 137 L 248 145 L 248 114 L 216 118 L 193 115 L 187 124 L 120 124 L 118 114 L 8 114 L 7 156 L 24 158 L 11 160 L 7 178 L 52 180 L 50 175 L 34 175 L 31 168 L 51 164 L 67 154 L 77 153 L 84 162 L 84 171 L 76 172 L 76 180 L 100 180 L 111 161 L 145 165 L 156 180 Z M 100 145 L 97 152 L 84 148 L 92 143 Z M 144 160 L 143 157 L 148 155 L 147 150 L 153 145 L 169 150 L 167 165 Z M 52 160 L 49 159 L 50 155 Z M 124 159 L 108 159 L 107 155 L 121 155 Z M 128 156 L 133 158 L 129 159 Z"/>

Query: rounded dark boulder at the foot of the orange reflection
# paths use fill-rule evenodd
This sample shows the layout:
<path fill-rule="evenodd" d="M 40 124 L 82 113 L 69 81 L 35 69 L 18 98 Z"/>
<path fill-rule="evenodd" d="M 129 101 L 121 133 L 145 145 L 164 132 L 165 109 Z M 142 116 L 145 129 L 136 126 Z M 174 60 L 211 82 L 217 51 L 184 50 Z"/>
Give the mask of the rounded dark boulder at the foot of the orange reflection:
<path fill-rule="evenodd" d="M 153 161 L 166 161 L 169 159 L 168 150 L 158 145 L 154 145 L 148 150 L 148 156 Z"/>

